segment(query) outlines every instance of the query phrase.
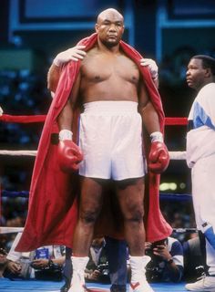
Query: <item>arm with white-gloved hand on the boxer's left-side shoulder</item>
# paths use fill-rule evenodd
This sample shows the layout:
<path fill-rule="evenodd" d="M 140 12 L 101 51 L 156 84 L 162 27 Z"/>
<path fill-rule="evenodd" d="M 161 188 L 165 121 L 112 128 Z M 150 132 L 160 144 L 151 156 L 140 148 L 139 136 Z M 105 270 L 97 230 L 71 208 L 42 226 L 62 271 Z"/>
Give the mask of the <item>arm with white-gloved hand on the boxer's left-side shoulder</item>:
<path fill-rule="evenodd" d="M 83 50 L 85 46 L 77 46 L 68 48 L 66 51 L 63 51 L 56 55 L 53 64 L 48 70 L 47 73 L 47 89 L 52 92 L 54 96 L 56 92 L 56 87 L 60 78 L 61 68 L 67 62 L 73 60 L 78 61 L 78 59 L 83 59 L 86 56 L 86 52 Z"/>

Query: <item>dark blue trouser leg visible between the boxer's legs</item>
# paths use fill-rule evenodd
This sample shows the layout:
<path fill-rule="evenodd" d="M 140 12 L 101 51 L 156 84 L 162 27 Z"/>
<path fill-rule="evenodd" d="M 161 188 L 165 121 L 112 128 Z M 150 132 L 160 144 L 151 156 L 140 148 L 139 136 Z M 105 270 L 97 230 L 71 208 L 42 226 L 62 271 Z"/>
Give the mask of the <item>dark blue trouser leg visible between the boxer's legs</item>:
<path fill-rule="evenodd" d="M 126 292 L 127 286 L 127 243 L 106 237 L 107 257 L 111 292 Z"/>

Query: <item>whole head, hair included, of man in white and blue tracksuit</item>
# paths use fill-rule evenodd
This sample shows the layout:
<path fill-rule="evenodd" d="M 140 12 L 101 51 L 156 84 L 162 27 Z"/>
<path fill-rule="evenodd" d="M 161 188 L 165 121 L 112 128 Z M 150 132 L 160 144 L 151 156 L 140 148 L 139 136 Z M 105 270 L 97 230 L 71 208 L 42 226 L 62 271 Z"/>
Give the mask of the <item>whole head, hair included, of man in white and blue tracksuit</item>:
<path fill-rule="evenodd" d="M 187 83 L 192 89 L 200 90 L 204 85 L 215 81 L 215 58 L 196 55 L 189 60 Z"/>

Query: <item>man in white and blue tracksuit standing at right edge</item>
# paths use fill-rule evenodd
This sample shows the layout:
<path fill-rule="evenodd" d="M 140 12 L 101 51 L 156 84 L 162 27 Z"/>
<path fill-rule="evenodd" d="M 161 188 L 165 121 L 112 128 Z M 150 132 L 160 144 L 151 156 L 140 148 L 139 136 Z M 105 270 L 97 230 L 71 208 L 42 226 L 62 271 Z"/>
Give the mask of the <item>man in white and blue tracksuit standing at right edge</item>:
<path fill-rule="evenodd" d="M 187 83 L 198 95 L 189 111 L 187 162 L 191 168 L 192 197 L 197 228 L 205 237 L 206 276 L 187 284 L 189 291 L 215 291 L 215 59 L 190 59 Z M 200 236 L 202 237 L 202 236 Z"/>

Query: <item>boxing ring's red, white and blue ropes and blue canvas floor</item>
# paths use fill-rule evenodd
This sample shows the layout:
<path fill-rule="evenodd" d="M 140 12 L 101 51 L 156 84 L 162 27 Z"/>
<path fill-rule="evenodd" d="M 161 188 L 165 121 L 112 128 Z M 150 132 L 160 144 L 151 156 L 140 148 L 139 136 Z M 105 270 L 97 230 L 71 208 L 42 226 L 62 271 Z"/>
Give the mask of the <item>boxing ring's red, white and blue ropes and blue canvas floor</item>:
<path fill-rule="evenodd" d="M 46 115 L 36 115 L 36 116 L 11 116 L 3 114 L 0 116 L 0 121 L 5 123 L 42 123 L 46 120 Z M 187 118 L 166 118 L 165 119 L 165 126 L 186 126 L 187 125 Z M 26 151 L 26 150 L 0 150 L 0 157 L 6 156 L 8 159 L 13 157 L 35 157 L 36 151 Z M 169 151 L 170 160 L 185 160 L 186 159 L 186 152 L 185 151 Z M 1 185 L 0 189 L 0 218 L 2 214 L 2 198 L 4 197 L 23 197 L 28 198 L 28 191 L 21 191 L 21 192 L 10 192 L 4 190 L 4 185 Z M 173 197 L 172 194 L 161 194 L 160 198 L 168 199 L 169 197 Z M 177 198 L 178 197 L 178 198 Z M 179 198 L 180 197 L 180 198 Z M 190 195 L 179 195 L 176 196 L 177 199 L 181 200 L 183 197 L 184 200 L 190 200 Z M 13 234 L 23 230 L 23 227 L 7 227 L 7 226 L 0 226 L 0 235 L 3 234 Z M 196 232 L 195 228 L 176 228 L 174 229 L 176 233 L 185 233 L 185 232 Z M 64 285 L 64 281 L 62 282 L 54 282 L 54 281 L 40 281 L 40 280 L 10 280 L 8 278 L 0 278 L 0 291 L 9 291 L 9 292 L 16 292 L 20 290 L 22 292 L 30 292 L 30 291 L 59 291 L 60 287 Z M 150 284 L 151 287 L 156 292 L 165 292 L 165 291 L 179 291 L 184 292 L 187 291 L 184 288 L 184 283 L 153 283 Z M 87 283 L 87 287 L 89 288 L 90 292 L 98 292 L 98 291 L 109 291 L 110 285 L 102 285 L 96 283 Z"/>

